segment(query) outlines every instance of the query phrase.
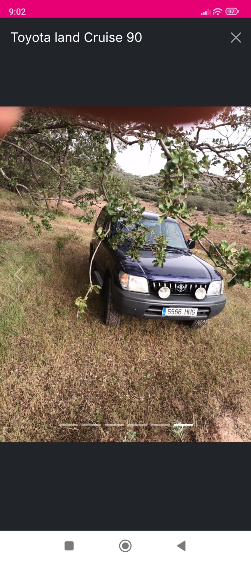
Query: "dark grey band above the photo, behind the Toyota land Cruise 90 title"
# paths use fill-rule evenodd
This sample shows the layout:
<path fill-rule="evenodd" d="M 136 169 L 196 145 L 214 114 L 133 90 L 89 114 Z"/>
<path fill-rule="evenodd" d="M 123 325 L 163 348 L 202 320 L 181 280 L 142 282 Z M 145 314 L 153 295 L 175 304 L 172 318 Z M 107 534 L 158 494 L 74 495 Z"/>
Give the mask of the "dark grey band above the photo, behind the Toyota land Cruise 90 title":
<path fill-rule="evenodd" d="M 249 105 L 250 31 L 244 19 L 4 19 L 1 105 Z M 51 43 L 13 43 L 11 31 Z M 54 43 L 54 33 L 80 43 Z M 86 31 L 122 43 L 85 43 Z M 127 43 L 141 31 L 141 43 Z M 241 31 L 241 43 L 231 43 Z"/>

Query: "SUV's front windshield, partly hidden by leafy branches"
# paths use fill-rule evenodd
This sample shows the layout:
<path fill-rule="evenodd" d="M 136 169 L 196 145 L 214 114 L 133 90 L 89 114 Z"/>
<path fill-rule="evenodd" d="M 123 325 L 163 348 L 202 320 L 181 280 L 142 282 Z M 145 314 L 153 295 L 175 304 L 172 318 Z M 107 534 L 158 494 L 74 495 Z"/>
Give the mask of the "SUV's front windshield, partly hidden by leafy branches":
<path fill-rule="evenodd" d="M 177 247 L 179 249 L 187 249 L 187 245 L 185 243 L 182 230 L 179 227 L 179 224 L 176 222 L 158 222 L 156 219 L 151 218 L 144 218 L 140 220 L 140 224 L 131 224 L 131 226 L 125 226 L 123 220 L 119 220 L 118 227 L 123 232 L 133 232 L 136 231 L 141 226 L 145 226 L 148 228 L 149 232 L 147 232 L 147 241 L 146 243 L 155 244 L 155 238 L 157 236 L 166 236 L 168 239 L 168 246 L 170 247 Z M 154 230 L 154 233 L 151 235 L 151 231 Z M 128 237 L 127 240 L 130 238 Z"/>

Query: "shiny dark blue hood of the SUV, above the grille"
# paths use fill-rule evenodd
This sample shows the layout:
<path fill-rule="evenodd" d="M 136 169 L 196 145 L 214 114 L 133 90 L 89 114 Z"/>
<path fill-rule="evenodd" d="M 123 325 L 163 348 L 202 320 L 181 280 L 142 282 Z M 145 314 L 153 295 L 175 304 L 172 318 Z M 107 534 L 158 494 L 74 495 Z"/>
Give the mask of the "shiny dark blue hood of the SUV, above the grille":
<path fill-rule="evenodd" d="M 150 280 L 169 280 L 174 282 L 201 282 L 207 283 L 212 280 L 221 280 L 219 271 L 212 265 L 200 259 L 190 251 L 185 253 L 166 251 L 165 263 L 161 268 L 154 267 L 152 261 L 154 256 L 151 250 L 142 250 L 140 259 L 134 261 L 126 254 L 127 247 L 119 247 L 118 257 L 122 270 L 125 273 L 146 277 Z"/>

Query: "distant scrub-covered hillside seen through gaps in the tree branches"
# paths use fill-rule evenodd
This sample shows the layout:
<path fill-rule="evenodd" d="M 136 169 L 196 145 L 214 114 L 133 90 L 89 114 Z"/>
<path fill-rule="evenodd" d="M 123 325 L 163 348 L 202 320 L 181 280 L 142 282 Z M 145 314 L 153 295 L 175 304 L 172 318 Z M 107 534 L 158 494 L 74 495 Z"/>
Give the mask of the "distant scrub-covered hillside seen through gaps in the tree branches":
<path fill-rule="evenodd" d="M 124 172 L 122 169 L 118 169 L 117 174 L 123 180 L 123 188 L 129 191 L 133 196 L 138 197 L 143 201 L 158 200 L 159 197 L 156 193 L 159 188 L 159 173 L 140 177 L 133 175 L 132 173 Z M 189 196 L 188 207 L 196 205 L 197 209 L 202 211 L 211 210 L 217 213 L 229 212 L 236 200 L 234 195 L 225 195 L 226 205 L 224 196 L 219 188 L 219 186 L 221 187 L 219 176 L 213 175 L 211 177 L 206 173 L 201 173 L 198 185 L 202 188 L 202 191 L 199 194 L 194 193 Z"/>

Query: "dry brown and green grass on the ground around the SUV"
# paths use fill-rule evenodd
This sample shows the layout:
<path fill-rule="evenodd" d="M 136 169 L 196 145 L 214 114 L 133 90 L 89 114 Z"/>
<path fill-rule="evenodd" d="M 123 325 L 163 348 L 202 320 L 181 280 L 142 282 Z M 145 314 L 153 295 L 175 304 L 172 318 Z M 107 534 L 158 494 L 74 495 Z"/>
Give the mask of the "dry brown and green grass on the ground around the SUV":
<path fill-rule="evenodd" d="M 226 414 L 248 419 L 251 291 L 226 288 L 224 312 L 201 330 L 129 316 L 109 329 L 101 296 L 91 295 L 86 314 L 76 317 L 91 227 L 61 219 L 53 234 L 37 238 L 30 230 L 20 241 L 23 219 L 6 209 L 1 215 L 8 219 L 0 250 L 3 441 L 207 441 Z M 68 242 L 59 259 L 55 236 L 69 232 L 81 240 Z M 22 265 L 23 283 L 14 275 Z M 175 421 L 193 427 L 175 434 Z"/>

